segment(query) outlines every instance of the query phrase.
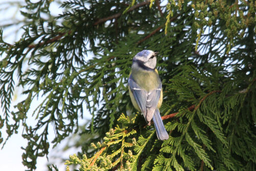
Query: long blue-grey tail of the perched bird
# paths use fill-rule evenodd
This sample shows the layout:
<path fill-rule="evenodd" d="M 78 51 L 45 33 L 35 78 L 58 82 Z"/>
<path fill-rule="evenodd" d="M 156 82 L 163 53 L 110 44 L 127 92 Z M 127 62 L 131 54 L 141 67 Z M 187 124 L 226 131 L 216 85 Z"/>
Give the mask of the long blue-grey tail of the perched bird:
<path fill-rule="evenodd" d="M 169 135 L 167 134 L 167 132 L 165 130 L 165 127 L 163 125 L 163 121 L 161 119 L 158 109 L 156 109 L 156 111 L 153 115 L 153 121 L 154 121 L 154 125 L 156 127 L 157 138 L 159 140 L 167 140 L 169 138 Z"/>

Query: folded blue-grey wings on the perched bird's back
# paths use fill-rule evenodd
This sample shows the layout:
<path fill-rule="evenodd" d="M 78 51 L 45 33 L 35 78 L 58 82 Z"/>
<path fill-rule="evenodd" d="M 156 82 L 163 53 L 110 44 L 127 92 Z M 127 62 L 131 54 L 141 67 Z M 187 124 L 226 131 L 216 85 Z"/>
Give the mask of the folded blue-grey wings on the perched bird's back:
<path fill-rule="evenodd" d="M 144 118 L 147 122 L 150 122 L 157 108 L 162 84 L 160 83 L 157 89 L 147 92 L 131 77 L 129 77 L 128 83 Z"/>

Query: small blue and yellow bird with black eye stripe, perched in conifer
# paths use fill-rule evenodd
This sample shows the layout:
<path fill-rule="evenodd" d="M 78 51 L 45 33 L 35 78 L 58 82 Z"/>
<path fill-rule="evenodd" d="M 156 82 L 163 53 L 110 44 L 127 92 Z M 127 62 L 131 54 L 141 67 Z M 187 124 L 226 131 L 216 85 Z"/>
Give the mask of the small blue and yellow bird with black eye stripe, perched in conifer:
<path fill-rule="evenodd" d="M 141 111 L 146 122 L 153 119 L 157 138 L 169 138 L 159 108 L 163 101 L 162 82 L 158 75 L 156 53 L 143 50 L 133 58 L 132 71 L 128 79 L 129 94 L 134 107 Z"/>

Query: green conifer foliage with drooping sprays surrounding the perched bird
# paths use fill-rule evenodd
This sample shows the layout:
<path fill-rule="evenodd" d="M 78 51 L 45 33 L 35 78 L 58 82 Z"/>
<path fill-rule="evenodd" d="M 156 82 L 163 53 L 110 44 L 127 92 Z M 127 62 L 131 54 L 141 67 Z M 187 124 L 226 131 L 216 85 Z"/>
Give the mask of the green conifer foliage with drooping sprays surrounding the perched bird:
<path fill-rule="evenodd" d="M 15 44 L 0 36 L 0 127 L 9 137 L 24 128 L 29 170 L 50 144 L 78 131 L 84 109 L 92 120 L 81 136 L 90 136 L 67 170 L 256 169 L 256 2 L 69 0 L 48 20 L 50 3 L 26 1 L 25 32 Z M 143 49 L 160 54 L 165 141 L 135 115 L 127 93 L 132 58 Z M 10 111 L 15 84 L 27 98 Z"/>

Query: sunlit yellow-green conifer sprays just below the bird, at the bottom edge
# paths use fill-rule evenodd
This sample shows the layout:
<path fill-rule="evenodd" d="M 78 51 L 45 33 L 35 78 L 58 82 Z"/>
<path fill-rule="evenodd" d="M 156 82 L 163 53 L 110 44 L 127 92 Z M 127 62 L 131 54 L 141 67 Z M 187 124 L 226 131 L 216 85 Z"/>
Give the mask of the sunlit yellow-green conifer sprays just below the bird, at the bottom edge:
<path fill-rule="evenodd" d="M 65 164 L 78 164 L 79 170 L 108 170 L 117 166 L 120 170 L 137 170 L 136 166 L 139 162 L 140 154 L 146 146 L 148 139 L 154 135 L 154 132 L 148 138 L 140 136 L 137 143 L 135 138 L 131 138 L 132 135 L 136 134 L 136 131 L 129 129 L 129 126 L 134 125 L 135 118 L 130 119 L 122 114 L 118 121 L 119 124 L 123 125 L 123 128 L 120 128 L 118 124 L 115 129 L 111 129 L 110 132 L 106 133 L 103 143 L 91 143 L 92 147 L 99 149 L 97 153 L 91 158 L 87 158 L 86 154 L 84 154 L 82 159 L 79 159 L 74 154 L 70 156 L 70 160 L 67 160 Z M 136 155 L 129 149 L 132 147 L 134 147 L 133 151 Z M 67 166 L 66 170 L 69 169 L 69 166 Z"/>

